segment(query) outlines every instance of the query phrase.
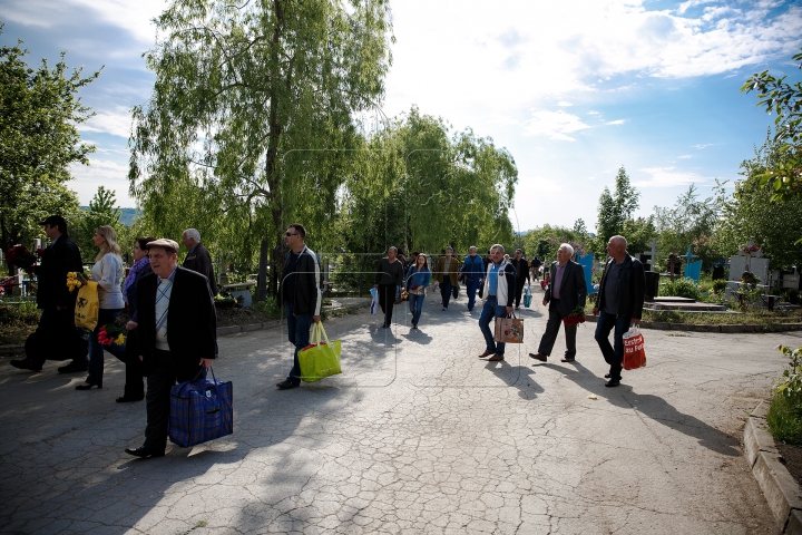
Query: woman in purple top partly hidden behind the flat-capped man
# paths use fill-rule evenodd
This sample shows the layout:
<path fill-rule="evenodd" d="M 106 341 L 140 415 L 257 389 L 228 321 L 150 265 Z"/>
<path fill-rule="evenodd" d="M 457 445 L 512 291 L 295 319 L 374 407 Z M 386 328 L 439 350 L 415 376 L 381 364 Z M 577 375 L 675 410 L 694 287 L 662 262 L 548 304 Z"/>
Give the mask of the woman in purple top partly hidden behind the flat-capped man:
<path fill-rule="evenodd" d="M 139 324 L 137 288 L 144 276 L 153 273 L 147 244 L 154 241 L 156 241 L 156 239 L 150 236 L 136 239 L 134 242 L 134 265 L 128 271 L 128 276 L 126 276 L 123 283 L 123 298 L 125 298 L 128 304 L 130 320 L 126 323 L 128 337 L 126 338 L 125 354 L 121 359 L 126 364 L 126 383 L 123 389 L 123 396 L 117 398 L 118 403 L 141 401 L 145 399 L 145 381 L 143 380 L 143 366 L 141 360 L 139 360 L 139 342 L 137 340 L 137 325 Z"/>

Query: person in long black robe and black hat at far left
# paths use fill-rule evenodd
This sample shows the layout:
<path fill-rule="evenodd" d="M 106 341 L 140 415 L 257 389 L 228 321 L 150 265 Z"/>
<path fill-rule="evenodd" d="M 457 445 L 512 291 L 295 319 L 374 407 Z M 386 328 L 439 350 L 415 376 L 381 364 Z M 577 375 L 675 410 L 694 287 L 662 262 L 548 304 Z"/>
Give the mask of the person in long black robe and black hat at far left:
<path fill-rule="evenodd" d="M 67 222 L 51 215 L 40 223 L 50 245 L 45 250 L 37 269 L 39 288 L 37 307 L 41 309 L 37 330 L 26 340 L 26 358 L 12 360 L 11 366 L 39 371 L 47 359 L 72 359 L 59 368 L 61 373 L 86 371 L 87 342 L 75 327 L 75 302 L 78 292 L 67 288 L 67 273 L 84 271 L 78 245 L 67 235 Z"/>

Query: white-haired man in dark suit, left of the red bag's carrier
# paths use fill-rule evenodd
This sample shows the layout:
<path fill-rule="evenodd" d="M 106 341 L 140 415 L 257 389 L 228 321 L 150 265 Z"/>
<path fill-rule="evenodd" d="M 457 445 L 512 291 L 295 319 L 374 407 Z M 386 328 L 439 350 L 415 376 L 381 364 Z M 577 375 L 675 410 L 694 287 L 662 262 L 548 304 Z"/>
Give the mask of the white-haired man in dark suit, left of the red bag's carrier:
<path fill-rule="evenodd" d="M 529 357 L 540 362 L 546 362 L 551 354 L 563 319 L 570 315 L 577 307 L 585 308 L 587 295 L 585 272 L 581 265 L 570 260 L 571 256 L 574 256 L 574 247 L 564 243 L 557 251 L 557 262 L 551 263 L 551 283 L 546 290 L 542 303 L 544 307 L 549 305 L 549 319 L 538 352 L 529 353 Z M 576 324 L 565 325 L 566 352 L 563 362 L 576 360 Z"/>

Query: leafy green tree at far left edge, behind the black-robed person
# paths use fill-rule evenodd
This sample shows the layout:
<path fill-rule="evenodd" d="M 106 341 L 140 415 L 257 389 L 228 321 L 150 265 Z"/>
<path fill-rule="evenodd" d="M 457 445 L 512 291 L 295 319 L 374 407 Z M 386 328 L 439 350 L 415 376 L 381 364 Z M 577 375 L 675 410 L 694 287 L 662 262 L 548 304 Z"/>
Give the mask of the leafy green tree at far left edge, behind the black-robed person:
<path fill-rule="evenodd" d="M 0 25 L 0 35 L 2 25 Z M 0 47 L 0 246 L 41 235 L 39 222 L 48 215 L 68 221 L 78 212 L 78 198 L 65 185 L 72 163 L 89 165 L 95 147 L 80 143 L 77 125 L 94 114 L 80 104 L 78 91 L 100 72 L 67 74 L 65 57 L 55 68 L 42 59 L 28 67 L 28 50 Z"/>

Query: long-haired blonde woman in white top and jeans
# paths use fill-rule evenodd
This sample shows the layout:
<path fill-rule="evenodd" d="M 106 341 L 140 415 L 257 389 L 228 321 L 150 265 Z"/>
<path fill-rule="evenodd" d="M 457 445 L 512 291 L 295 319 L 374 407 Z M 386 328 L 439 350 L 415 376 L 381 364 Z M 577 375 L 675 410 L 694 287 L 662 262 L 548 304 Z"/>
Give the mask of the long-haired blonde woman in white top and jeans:
<path fill-rule="evenodd" d="M 98 226 L 92 236 L 95 246 L 100 250 L 95 259 L 91 280 L 98 283 L 98 301 L 100 311 L 98 324 L 89 333 L 89 377 L 76 390 L 89 390 L 92 387 L 102 388 L 104 347 L 98 342 L 97 333 L 101 327 L 114 322 L 123 312 L 123 259 L 120 247 L 117 245 L 117 233 L 108 225 Z"/>

